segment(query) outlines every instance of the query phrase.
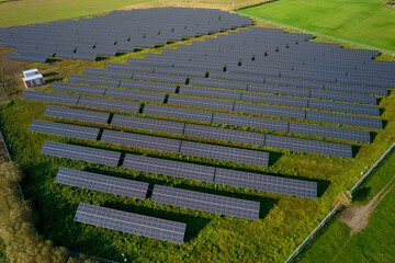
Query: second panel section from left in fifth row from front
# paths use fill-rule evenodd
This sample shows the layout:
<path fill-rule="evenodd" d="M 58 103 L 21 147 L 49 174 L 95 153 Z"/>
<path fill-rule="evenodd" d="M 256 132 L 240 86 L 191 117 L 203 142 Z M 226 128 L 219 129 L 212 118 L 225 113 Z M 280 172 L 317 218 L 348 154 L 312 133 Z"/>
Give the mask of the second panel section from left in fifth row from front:
<path fill-rule="evenodd" d="M 145 118 L 136 116 L 127 116 L 115 114 L 111 121 L 112 125 L 125 126 L 131 128 L 139 128 L 147 130 L 157 130 L 169 134 L 182 134 L 184 129 L 183 123 L 155 119 L 155 118 Z"/>

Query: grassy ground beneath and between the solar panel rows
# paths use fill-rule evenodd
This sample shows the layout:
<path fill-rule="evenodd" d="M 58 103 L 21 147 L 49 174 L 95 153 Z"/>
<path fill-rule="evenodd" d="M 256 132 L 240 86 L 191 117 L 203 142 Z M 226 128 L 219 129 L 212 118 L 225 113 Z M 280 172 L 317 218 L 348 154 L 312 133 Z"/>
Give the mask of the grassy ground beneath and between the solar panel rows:
<path fill-rule="evenodd" d="M 191 41 L 183 43 L 191 43 Z M 177 45 L 167 45 L 166 47 L 174 48 Z M 10 50 L 10 48 L 0 48 Z M 22 62 L 18 66 L 22 68 L 27 65 L 29 67 L 37 67 L 41 72 L 47 76 L 46 80 L 54 81 L 67 79 L 71 73 L 81 75 L 86 68 L 104 68 L 108 62 L 126 62 L 129 57 L 144 57 L 146 53 L 160 53 L 161 50 L 162 48 L 148 48 L 139 53 L 111 57 L 101 61 L 87 62 L 63 59 L 45 65 Z M 16 66 L 15 68 L 18 69 Z M 19 71 L 13 72 L 14 76 L 19 76 Z M 49 91 L 49 89 L 50 83 L 37 90 Z M 8 87 L 8 91 L 14 101 L 8 104 L 7 107 L 1 108 L 1 126 L 7 140 L 12 146 L 11 151 L 14 160 L 21 164 L 21 168 L 27 174 L 23 181 L 23 188 L 26 197 L 32 199 L 34 208 L 37 210 L 40 220 L 37 220 L 36 227 L 38 232 L 53 240 L 56 244 L 65 245 L 70 250 L 119 261 L 122 260 L 121 253 L 125 253 L 128 259 L 137 262 L 147 260 L 171 262 L 283 261 L 332 207 L 336 196 L 349 188 L 358 180 L 363 168 L 371 165 L 391 145 L 395 119 L 394 112 L 390 110 L 395 106 L 394 94 L 391 94 L 380 100 L 380 107 L 384 110 L 381 117 L 386 123 L 385 128 L 380 132 L 376 130 L 377 134 L 370 145 L 352 144 L 358 149 L 353 159 L 273 149 L 271 153 L 274 159 L 269 168 L 242 167 L 242 169 L 247 170 L 284 174 L 290 178 L 318 182 L 319 198 L 309 199 L 214 185 L 213 183 L 199 183 L 196 181 L 133 172 L 123 168 L 110 168 L 38 155 L 44 140 L 111 148 L 124 152 L 131 152 L 134 149 L 44 134 L 33 135 L 27 132 L 32 119 L 56 121 L 56 118 L 43 116 L 46 103 L 20 100 L 23 90 L 19 82 L 15 81 L 12 87 Z M 162 119 L 167 118 L 162 117 Z M 108 127 L 106 125 L 92 125 L 91 123 L 76 121 L 63 119 L 63 122 L 102 128 Z M 132 129 L 125 128 L 124 130 Z M 179 137 L 176 136 L 174 138 Z M 320 140 L 319 138 L 316 139 Z M 169 153 L 165 153 L 162 157 L 177 158 Z M 195 158 L 193 161 L 217 165 L 215 161 L 200 158 Z M 54 184 L 59 167 L 258 201 L 261 203 L 260 220 L 232 218 L 180 207 L 170 208 L 167 205 L 151 203 L 147 199 L 134 201 L 89 190 L 64 187 Z M 187 222 L 189 227 L 185 242 L 180 247 L 76 224 L 74 215 L 80 202 Z"/>

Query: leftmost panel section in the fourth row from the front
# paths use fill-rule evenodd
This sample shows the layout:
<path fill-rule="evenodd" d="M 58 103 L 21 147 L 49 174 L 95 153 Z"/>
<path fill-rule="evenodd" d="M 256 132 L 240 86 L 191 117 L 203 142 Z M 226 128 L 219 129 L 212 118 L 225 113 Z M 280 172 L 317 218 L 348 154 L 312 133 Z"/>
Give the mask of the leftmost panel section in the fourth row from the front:
<path fill-rule="evenodd" d="M 29 130 L 90 140 L 95 140 L 100 132 L 99 128 L 93 127 L 63 123 L 50 123 L 37 119 L 33 119 Z"/>

